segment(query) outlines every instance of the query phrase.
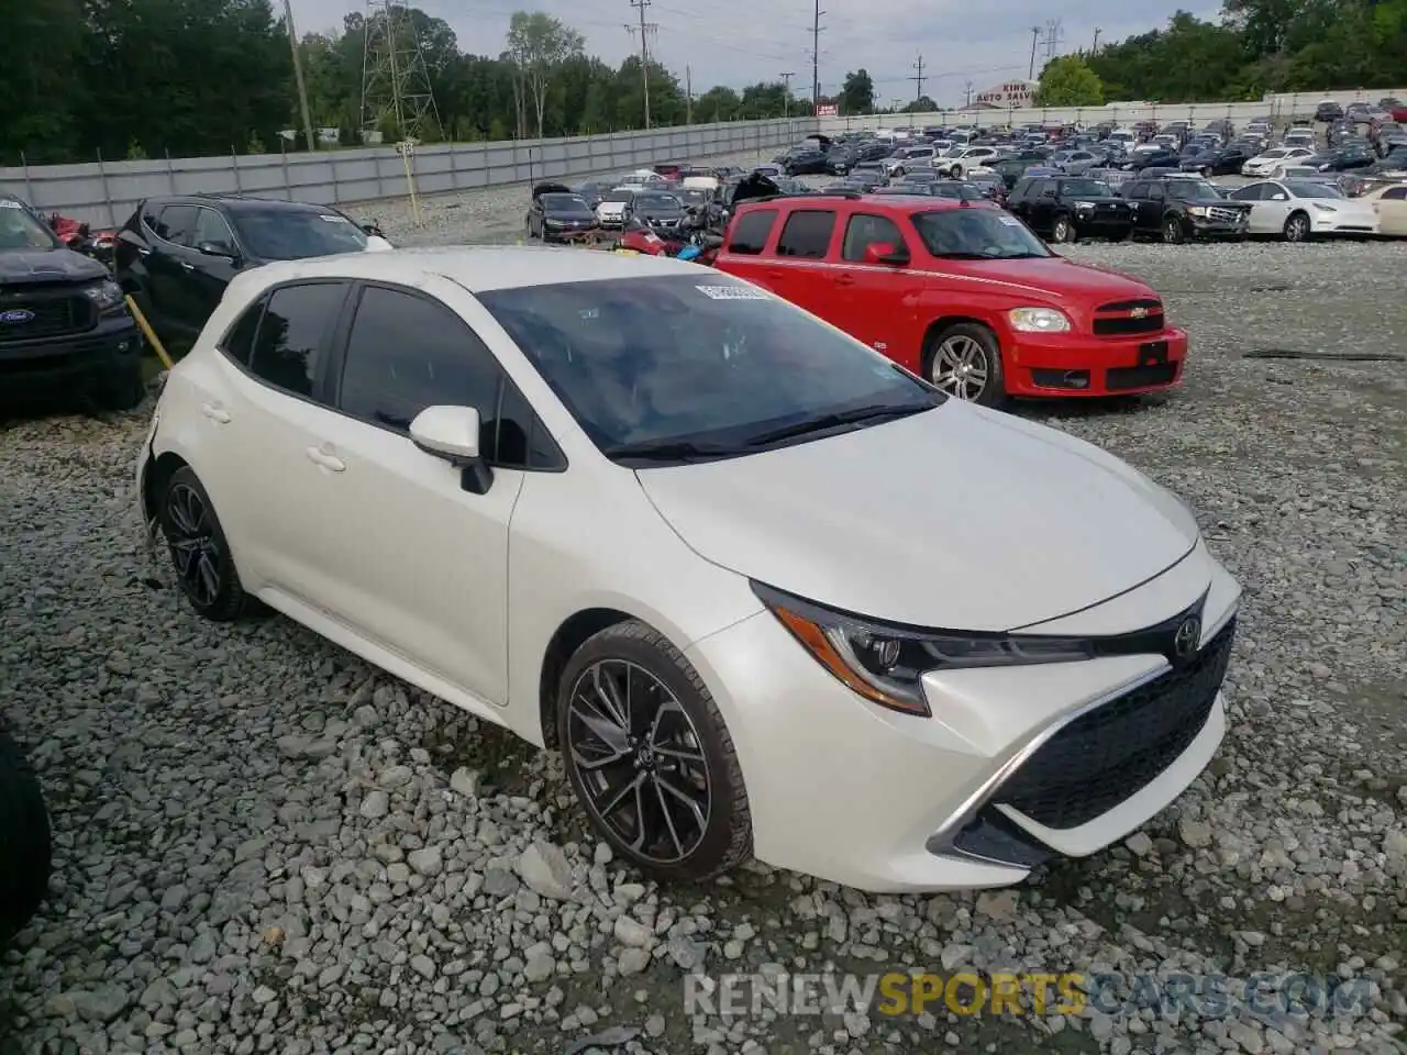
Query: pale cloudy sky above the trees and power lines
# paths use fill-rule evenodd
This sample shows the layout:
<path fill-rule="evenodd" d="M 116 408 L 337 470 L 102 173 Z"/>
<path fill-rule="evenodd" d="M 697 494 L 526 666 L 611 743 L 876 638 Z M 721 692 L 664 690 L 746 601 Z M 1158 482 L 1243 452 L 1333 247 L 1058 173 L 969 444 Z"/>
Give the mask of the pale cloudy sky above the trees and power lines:
<path fill-rule="evenodd" d="M 459 37 L 460 51 L 497 55 L 504 49 L 508 18 L 515 10 L 546 11 L 587 38 L 587 52 L 619 63 L 639 53 L 640 13 L 632 0 L 421 0 L 412 6 L 443 18 Z M 848 70 L 865 68 L 875 82 L 875 101 L 916 97 L 913 80 L 923 59 L 923 94 L 940 106 L 961 106 L 971 83 L 974 93 L 1007 79 L 1024 79 L 1030 70 L 1031 28 L 1044 27 L 1058 11 L 1034 0 L 985 3 L 926 3 L 889 0 L 875 6 L 860 0 L 822 0 L 820 90 L 834 94 Z M 1206 7 L 1204 3 L 1196 8 Z M 321 32 L 342 24 L 350 10 L 366 10 L 360 0 L 293 0 L 300 34 Z M 1099 28 L 1100 44 L 1147 32 L 1166 24 L 1176 4 L 1166 0 L 1086 0 L 1062 18 L 1058 53 L 1089 48 Z M 1214 17 L 1217 7 L 1199 10 Z M 881 11 L 884 13 L 881 15 Z M 658 27 L 649 35 L 650 56 L 670 68 L 681 83 L 688 70 L 695 96 L 715 84 L 741 89 L 758 80 L 777 82 L 795 73 L 792 90 L 810 97 L 812 20 L 810 0 L 649 0 L 646 23 Z M 1044 35 L 1044 28 L 1043 28 Z M 1044 49 L 1038 49 L 1040 75 Z"/>

